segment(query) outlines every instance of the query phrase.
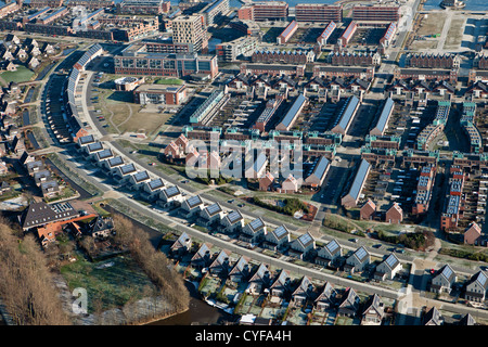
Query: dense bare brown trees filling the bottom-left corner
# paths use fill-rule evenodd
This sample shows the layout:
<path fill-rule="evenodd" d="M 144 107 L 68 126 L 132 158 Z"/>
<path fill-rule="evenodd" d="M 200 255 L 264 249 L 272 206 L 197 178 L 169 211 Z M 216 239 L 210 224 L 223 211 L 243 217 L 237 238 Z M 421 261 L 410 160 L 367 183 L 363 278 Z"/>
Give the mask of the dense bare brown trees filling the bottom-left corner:
<path fill-rule="evenodd" d="M 15 324 L 72 324 L 34 235 L 16 236 L 4 218 L 0 219 L 0 297 Z"/>

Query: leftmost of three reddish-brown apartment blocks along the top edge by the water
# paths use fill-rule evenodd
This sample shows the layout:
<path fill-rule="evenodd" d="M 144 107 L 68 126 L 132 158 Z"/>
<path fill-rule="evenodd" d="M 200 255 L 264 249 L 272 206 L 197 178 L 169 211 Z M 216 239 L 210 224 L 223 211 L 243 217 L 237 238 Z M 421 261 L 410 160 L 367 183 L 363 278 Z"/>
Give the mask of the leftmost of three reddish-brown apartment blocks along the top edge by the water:
<path fill-rule="evenodd" d="M 254 2 L 239 9 L 237 15 L 244 21 L 286 21 L 288 4 L 285 1 Z"/>

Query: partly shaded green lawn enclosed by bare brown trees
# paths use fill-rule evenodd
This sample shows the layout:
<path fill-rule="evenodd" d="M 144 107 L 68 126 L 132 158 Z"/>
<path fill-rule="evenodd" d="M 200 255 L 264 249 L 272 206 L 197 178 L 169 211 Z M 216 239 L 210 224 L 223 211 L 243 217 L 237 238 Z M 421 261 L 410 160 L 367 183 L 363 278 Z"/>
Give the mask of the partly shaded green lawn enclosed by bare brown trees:
<path fill-rule="evenodd" d="M 103 264 L 113 266 L 101 268 Z M 147 296 L 147 288 L 154 290 L 151 280 L 130 257 L 90 262 L 79 255 L 78 260 L 64 266 L 61 273 L 70 291 L 87 290 L 90 313 L 121 307 L 129 300 Z"/>

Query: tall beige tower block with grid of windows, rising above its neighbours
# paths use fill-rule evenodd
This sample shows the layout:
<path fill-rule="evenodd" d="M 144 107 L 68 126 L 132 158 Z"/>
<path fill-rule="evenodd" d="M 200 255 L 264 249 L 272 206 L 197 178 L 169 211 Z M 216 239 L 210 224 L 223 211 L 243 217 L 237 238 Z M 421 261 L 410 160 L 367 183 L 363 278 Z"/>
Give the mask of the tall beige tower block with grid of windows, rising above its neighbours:
<path fill-rule="evenodd" d="M 184 15 L 176 17 L 172 23 L 172 41 L 175 43 L 192 44 L 193 51 L 208 47 L 207 30 L 201 15 Z"/>

